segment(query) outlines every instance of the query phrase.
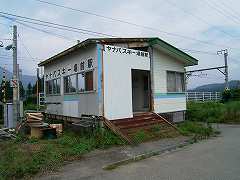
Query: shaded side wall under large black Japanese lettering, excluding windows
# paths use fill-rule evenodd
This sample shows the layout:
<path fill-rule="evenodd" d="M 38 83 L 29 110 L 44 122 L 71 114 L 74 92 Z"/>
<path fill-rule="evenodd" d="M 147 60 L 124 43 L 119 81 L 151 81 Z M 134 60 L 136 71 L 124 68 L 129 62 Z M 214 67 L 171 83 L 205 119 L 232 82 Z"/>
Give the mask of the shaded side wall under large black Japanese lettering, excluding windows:
<path fill-rule="evenodd" d="M 87 59 L 93 59 L 93 92 L 88 93 L 74 93 L 66 95 L 63 90 L 63 77 L 66 75 L 71 75 L 76 72 L 73 71 L 74 64 L 80 65 L 80 62 L 85 61 L 87 65 Z M 60 76 L 45 78 L 46 80 L 61 78 L 61 94 L 60 95 L 49 95 L 46 97 L 46 102 L 50 103 L 47 105 L 47 112 L 52 114 L 59 114 L 65 116 L 79 117 L 81 114 L 99 115 L 98 109 L 98 98 L 97 98 L 97 86 L 98 86 L 98 62 L 97 62 L 97 48 L 95 45 L 83 47 L 71 54 L 61 57 L 55 60 L 51 64 L 44 66 L 44 75 L 46 76 L 50 72 L 54 72 L 58 69 L 65 68 L 66 73 Z M 86 66 L 85 66 L 86 67 Z M 71 68 L 71 71 L 67 69 Z M 79 72 L 79 71 L 78 71 Z M 51 103 L 58 103 L 51 104 Z"/>

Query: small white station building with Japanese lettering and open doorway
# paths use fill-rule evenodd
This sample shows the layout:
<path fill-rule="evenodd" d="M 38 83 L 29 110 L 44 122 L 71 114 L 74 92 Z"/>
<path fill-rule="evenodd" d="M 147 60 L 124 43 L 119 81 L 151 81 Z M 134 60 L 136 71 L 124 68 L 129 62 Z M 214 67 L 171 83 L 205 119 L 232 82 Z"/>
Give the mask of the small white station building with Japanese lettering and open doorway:
<path fill-rule="evenodd" d="M 197 63 L 159 38 L 87 39 L 39 64 L 47 113 L 117 120 L 155 112 L 182 121 L 185 67 Z"/>

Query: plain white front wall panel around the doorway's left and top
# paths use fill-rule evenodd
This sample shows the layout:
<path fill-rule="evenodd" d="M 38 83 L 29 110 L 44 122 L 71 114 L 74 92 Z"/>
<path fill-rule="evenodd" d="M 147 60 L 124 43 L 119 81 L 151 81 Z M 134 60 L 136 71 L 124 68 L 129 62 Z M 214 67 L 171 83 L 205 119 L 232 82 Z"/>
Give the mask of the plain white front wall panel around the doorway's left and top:
<path fill-rule="evenodd" d="M 103 51 L 104 116 L 109 120 L 133 117 L 131 69 L 150 70 L 149 54 L 142 57 L 135 54 L 136 50 L 132 54 L 113 52 L 107 46 Z"/>

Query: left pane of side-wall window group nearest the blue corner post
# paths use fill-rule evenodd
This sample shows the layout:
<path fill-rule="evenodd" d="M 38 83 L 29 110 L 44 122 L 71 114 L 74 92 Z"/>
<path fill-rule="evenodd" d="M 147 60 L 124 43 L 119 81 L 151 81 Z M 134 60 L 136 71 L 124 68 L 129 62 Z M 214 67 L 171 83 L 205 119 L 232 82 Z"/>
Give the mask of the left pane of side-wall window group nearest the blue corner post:
<path fill-rule="evenodd" d="M 77 89 L 76 74 L 64 77 L 64 93 L 73 93 Z"/>

